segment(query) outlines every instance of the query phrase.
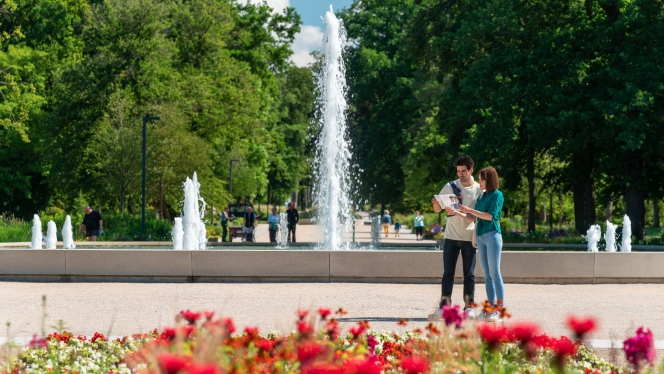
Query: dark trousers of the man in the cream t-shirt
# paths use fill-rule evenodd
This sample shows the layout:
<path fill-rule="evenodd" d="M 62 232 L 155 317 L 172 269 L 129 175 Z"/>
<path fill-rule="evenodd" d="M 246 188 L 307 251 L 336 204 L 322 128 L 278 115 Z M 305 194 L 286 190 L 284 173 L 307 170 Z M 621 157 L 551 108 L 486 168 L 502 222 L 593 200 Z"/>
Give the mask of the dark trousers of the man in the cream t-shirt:
<path fill-rule="evenodd" d="M 443 243 L 444 273 L 442 280 L 442 297 L 440 306 L 452 303 L 454 272 L 461 253 L 463 263 L 463 299 L 468 303 L 475 302 L 475 258 L 477 250 L 470 241 L 445 239 Z"/>

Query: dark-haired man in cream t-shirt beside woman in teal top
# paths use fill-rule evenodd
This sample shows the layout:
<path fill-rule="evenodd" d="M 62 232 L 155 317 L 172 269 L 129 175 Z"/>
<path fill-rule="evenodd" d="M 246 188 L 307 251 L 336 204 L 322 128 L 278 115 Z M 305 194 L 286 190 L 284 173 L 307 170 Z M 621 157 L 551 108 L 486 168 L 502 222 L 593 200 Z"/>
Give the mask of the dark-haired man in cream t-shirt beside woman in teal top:
<path fill-rule="evenodd" d="M 454 160 L 459 179 L 451 181 L 440 190 L 439 195 L 454 194 L 459 203 L 465 206 L 475 207 L 475 202 L 482 194 L 479 183 L 473 179 L 473 167 L 475 163 L 470 156 L 461 156 Z M 434 198 L 433 210 L 438 213 L 442 207 Z M 454 272 L 456 269 L 459 253 L 463 261 L 463 299 L 465 311 L 468 317 L 474 318 L 475 311 L 472 304 L 475 302 L 475 258 L 476 249 L 472 245 L 473 230 L 469 230 L 475 217 L 470 214 L 461 213 L 453 208 L 445 208 L 447 211 L 447 224 L 445 225 L 445 241 L 443 243 L 443 279 L 441 281 L 442 293 L 439 308 L 430 315 L 430 318 L 439 318 L 442 308 L 452 303 L 452 288 L 454 286 Z"/>

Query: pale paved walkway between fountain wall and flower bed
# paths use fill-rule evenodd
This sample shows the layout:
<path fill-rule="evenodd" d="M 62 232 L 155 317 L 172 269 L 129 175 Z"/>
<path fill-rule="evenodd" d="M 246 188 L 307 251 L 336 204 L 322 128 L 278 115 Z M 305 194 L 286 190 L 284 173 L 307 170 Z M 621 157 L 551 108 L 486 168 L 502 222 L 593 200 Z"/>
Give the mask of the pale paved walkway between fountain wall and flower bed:
<path fill-rule="evenodd" d="M 366 319 L 373 329 L 402 331 L 396 324 L 400 318 L 411 321 L 405 329 L 424 327 L 440 294 L 439 285 L 357 283 L 0 282 L 0 289 L 0 323 L 11 322 L 10 336 L 39 332 L 42 295 L 47 296 L 46 326 L 63 320 L 76 334 L 110 330 L 111 335 L 125 335 L 172 325 L 182 309 L 216 310 L 233 317 L 238 327 L 289 331 L 297 308 L 319 306 L 346 309 L 346 326 Z M 462 286 L 455 286 L 456 302 L 461 292 Z M 512 321 L 537 322 L 553 336 L 568 333 L 564 320 L 574 312 L 598 318 L 594 339 L 624 339 L 642 325 L 653 330 L 656 340 L 664 339 L 664 287 L 659 284 L 508 284 L 506 293 Z M 485 299 L 483 285 L 477 299 Z"/>

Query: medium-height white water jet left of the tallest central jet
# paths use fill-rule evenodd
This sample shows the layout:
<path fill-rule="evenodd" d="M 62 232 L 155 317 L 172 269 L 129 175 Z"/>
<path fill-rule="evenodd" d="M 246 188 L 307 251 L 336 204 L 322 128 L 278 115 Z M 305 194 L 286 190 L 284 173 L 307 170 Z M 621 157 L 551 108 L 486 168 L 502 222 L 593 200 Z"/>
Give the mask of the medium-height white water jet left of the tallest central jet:
<path fill-rule="evenodd" d="M 182 214 L 183 249 L 205 249 L 206 233 L 203 215 L 205 214 L 205 200 L 200 195 L 201 185 L 194 172 L 192 179 L 187 177 L 184 182 L 184 209 Z M 199 202 L 202 205 L 199 205 Z"/>

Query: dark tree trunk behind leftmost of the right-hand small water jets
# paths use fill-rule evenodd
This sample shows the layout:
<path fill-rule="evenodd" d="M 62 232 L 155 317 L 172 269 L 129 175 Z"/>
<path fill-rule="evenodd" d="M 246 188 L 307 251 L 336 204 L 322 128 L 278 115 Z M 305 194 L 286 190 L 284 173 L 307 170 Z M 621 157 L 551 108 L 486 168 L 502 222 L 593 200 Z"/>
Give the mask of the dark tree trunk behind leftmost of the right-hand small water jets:
<path fill-rule="evenodd" d="M 595 152 L 591 145 L 574 155 L 577 172 L 574 176 L 574 221 L 576 231 L 585 235 L 591 225 L 597 223 L 595 212 L 594 163 Z"/>

